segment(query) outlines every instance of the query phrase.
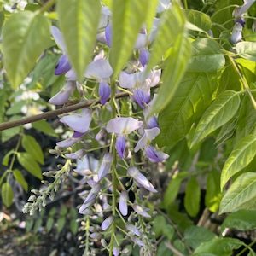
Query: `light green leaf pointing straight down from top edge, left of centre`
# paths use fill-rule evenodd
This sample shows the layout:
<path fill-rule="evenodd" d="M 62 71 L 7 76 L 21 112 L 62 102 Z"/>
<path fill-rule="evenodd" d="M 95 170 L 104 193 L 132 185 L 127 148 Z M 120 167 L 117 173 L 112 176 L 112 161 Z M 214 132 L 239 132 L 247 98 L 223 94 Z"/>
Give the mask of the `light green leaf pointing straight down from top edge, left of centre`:
<path fill-rule="evenodd" d="M 101 15 L 100 0 L 59 0 L 57 13 L 67 55 L 81 80 L 93 53 Z"/>

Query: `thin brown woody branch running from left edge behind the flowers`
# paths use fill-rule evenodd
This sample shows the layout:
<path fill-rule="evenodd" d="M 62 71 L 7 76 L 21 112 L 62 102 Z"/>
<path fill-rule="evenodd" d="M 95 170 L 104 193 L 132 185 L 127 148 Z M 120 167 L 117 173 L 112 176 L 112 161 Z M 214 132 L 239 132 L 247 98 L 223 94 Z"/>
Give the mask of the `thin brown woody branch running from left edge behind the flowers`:
<path fill-rule="evenodd" d="M 115 97 L 117 99 L 119 99 L 119 98 L 123 98 L 125 96 L 129 96 L 129 94 L 126 92 L 121 92 L 121 93 L 118 93 Z M 99 102 L 100 102 L 99 100 L 90 100 L 90 101 L 86 101 L 86 102 L 79 102 L 77 104 L 73 104 L 68 107 L 58 108 L 56 110 L 48 111 L 45 113 L 40 113 L 40 114 L 33 115 L 33 116 L 30 116 L 27 118 L 5 122 L 5 123 L 0 124 L 0 131 L 7 130 L 7 129 L 10 129 L 10 128 L 13 128 L 16 126 L 20 126 L 20 125 L 26 125 L 29 123 L 37 122 L 39 120 L 50 119 L 55 116 L 58 116 L 59 114 L 69 113 L 69 112 L 72 112 L 74 110 L 78 110 L 81 108 L 88 108 L 91 105 L 98 104 Z"/>

